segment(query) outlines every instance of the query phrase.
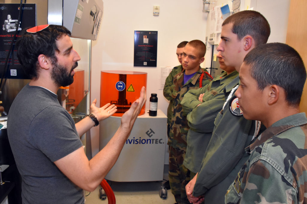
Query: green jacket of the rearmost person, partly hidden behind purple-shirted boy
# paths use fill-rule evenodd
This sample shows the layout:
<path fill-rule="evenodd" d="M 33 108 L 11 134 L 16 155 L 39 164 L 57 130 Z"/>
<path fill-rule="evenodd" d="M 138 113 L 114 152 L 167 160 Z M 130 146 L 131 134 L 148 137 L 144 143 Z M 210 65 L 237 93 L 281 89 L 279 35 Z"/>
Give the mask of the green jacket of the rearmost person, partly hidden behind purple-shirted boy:
<path fill-rule="evenodd" d="M 165 79 L 165 84 L 163 88 L 163 95 L 164 97 L 169 100 L 169 106 L 167 107 L 167 124 L 171 124 L 172 121 L 172 105 L 174 98 L 171 97 L 173 92 L 173 80 L 174 76 L 180 72 L 182 72 L 182 65 L 178 65 L 172 69 L 169 73 L 169 76 Z"/>

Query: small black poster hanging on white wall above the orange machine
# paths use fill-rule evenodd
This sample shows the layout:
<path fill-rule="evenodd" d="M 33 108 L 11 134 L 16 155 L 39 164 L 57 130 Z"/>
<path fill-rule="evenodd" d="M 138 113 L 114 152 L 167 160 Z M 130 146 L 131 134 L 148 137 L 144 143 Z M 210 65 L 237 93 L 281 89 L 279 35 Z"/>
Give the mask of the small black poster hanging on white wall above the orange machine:
<path fill-rule="evenodd" d="M 134 31 L 134 66 L 157 66 L 157 31 Z"/>

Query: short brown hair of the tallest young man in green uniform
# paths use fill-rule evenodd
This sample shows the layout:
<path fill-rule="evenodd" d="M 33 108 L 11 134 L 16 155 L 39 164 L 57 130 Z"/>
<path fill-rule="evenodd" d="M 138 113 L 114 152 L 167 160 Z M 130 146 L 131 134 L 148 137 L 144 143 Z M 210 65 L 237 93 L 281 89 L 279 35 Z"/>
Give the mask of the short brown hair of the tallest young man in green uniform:
<path fill-rule="evenodd" d="M 251 35 L 255 45 L 266 43 L 270 36 L 270 24 L 266 18 L 257 11 L 246 10 L 235 13 L 223 21 L 223 25 L 232 23 L 232 32 L 241 40 Z"/>

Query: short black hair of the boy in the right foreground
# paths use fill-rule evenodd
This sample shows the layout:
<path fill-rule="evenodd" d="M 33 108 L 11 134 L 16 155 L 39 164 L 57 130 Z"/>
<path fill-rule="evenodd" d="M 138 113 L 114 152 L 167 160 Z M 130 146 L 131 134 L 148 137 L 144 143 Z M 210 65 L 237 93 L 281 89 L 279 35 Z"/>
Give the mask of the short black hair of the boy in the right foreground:
<path fill-rule="evenodd" d="M 301 56 L 289 45 L 267 43 L 256 46 L 244 58 L 258 89 L 269 85 L 282 87 L 290 106 L 298 106 L 306 81 L 306 69 Z"/>

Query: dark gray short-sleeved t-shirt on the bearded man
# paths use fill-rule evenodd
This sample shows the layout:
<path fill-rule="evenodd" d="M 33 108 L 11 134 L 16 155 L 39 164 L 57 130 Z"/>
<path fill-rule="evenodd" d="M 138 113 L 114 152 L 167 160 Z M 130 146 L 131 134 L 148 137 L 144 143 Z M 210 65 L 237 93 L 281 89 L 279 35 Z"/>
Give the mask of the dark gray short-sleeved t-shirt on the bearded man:
<path fill-rule="evenodd" d="M 83 190 L 53 163 L 82 147 L 57 95 L 27 84 L 12 103 L 7 132 L 22 177 L 23 203 L 84 203 Z"/>

